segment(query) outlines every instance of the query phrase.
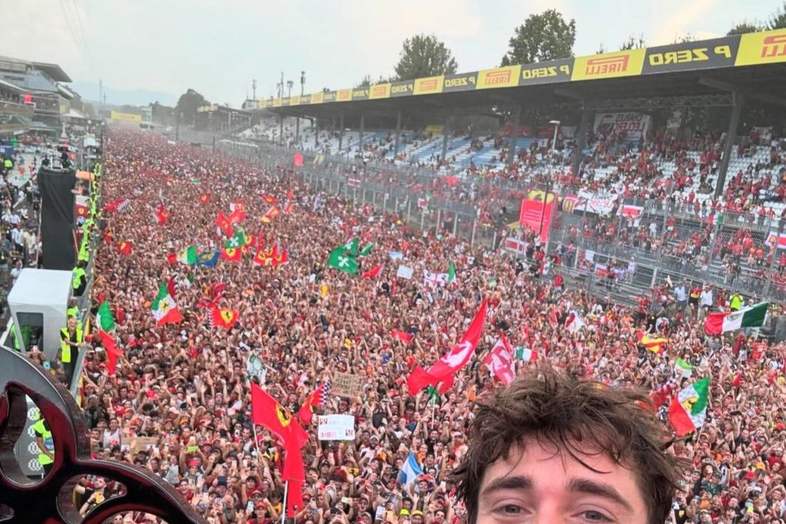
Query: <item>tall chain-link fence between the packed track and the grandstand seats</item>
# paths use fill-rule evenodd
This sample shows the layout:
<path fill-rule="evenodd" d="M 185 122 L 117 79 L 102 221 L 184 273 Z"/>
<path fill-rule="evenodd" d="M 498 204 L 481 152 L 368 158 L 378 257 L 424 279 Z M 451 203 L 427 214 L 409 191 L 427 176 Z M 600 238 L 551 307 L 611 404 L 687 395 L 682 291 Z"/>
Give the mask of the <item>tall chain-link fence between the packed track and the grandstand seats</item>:
<path fill-rule="evenodd" d="M 561 263 L 577 283 L 607 285 L 604 276 L 615 273 L 617 284 L 598 293 L 630 300 L 669 280 L 713 284 L 757 300 L 786 300 L 786 249 L 778 248 L 786 221 L 777 217 L 669 200 L 582 200 L 542 170 L 517 180 L 457 177 L 226 137 L 216 138 L 215 148 L 268 168 L 292 167 L 299 154 L 296 173 L 321 191 L 396 214 L 413 228 L 494 248 L 508 236 L 524 236 L 509 224 L 518 220 L 527 192 L 554 192 L 549 250 L 566 255 Z"/>

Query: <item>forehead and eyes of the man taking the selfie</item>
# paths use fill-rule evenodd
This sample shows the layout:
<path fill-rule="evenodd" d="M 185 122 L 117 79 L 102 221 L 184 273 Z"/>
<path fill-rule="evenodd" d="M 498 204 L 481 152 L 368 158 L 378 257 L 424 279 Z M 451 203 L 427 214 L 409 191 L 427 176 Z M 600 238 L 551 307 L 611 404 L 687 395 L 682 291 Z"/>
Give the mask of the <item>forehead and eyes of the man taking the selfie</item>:
<path fill-rule="evenodd" d="M 636 475 L 604 453 L 574 444 L 586 466 L 551 443 L 527 438 L 526 449 L 491 464 L 478 493 L 477 524 L 626 522 L 647 524 Z M 592 468 L 592 469 L 589 469 Z M 599 473 L 603 471 L 603 473 Z"/>

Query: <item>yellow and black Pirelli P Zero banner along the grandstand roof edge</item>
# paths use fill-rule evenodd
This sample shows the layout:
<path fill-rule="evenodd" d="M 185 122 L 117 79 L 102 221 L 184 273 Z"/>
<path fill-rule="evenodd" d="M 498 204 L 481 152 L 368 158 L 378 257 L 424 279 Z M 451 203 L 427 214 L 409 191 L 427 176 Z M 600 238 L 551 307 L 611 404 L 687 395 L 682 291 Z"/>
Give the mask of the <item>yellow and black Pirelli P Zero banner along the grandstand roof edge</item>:
<path fill-rule="evenodd" d="M 419 97 L 786 62 L 786 29 L 259 101 L 261 108 Z"/>

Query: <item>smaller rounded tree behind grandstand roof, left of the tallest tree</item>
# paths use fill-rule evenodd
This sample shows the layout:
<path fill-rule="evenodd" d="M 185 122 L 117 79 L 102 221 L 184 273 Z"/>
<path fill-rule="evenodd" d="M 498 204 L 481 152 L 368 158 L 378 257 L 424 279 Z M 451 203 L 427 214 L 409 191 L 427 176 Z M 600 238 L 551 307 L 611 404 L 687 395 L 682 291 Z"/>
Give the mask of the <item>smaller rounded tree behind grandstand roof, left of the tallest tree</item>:
<path fill-rule="evenodd" d="M 395 66 L 396 80 L 411 80 L 424 76 L 456 72 L 458 64 L 445 46 L 434 35 L 414 35 L 404 40 L 399 63 Z"/>

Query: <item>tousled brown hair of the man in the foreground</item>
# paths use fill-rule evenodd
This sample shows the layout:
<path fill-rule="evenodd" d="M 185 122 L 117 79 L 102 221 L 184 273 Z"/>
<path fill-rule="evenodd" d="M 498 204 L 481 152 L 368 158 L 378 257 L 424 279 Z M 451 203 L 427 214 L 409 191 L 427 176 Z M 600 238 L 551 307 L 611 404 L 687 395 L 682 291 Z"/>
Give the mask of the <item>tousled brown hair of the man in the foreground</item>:
<path fill-rule="evenodd" d="M 648 522 L 663 524 L 683 464 L 666 451 L 671 435 L 650 409 L 652 401 L 641 390 L 580 382 L 546 367 L 518 376 L 476 407 L 467 455 L 454 472 L 469 524 L 477 522 L 487 468 L 514 446 L 523 450 L 527 438 L 551 442 L 585 466 L 577 442 L 603 449 L 615 464 L 634 471 Z"/>

